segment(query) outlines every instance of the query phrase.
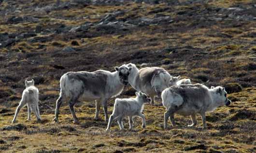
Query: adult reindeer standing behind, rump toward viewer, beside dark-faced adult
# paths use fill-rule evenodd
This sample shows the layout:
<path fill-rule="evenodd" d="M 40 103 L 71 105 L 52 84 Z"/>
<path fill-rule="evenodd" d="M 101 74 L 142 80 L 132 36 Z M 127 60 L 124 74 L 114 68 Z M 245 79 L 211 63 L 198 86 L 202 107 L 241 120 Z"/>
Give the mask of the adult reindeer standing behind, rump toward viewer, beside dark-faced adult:
<path fill-rule="evenodd" d="M 155 104 L 155 96 L 160 98 L 161 92 L 169 87 L 171 76 L 163 68 L 145 67 L 138 69 L 135 64 L 127 64 L 130 70 L 129 84 L 137 91 L 142 91 L 150 97 L 151 104 Z"/>

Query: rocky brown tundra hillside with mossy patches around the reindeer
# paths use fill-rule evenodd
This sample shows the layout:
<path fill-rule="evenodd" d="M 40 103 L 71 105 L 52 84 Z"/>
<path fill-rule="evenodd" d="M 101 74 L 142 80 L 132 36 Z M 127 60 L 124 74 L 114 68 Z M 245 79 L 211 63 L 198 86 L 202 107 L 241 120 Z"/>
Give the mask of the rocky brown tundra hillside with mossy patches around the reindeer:
<path fill-rule="evenodd" d="M 256 150 L 255 0 L 0 0 L 0 152 L 2 153 L 254 153 Z M 205 2 L 207 1 L 207 2 Z M 208 129 L 163 129 L 163 106 L 145 105 L 146 129 L 106 133 L 95 102 L 67 102 L 52 122 L 59 78 L 69 71 L 114 71 L 134 63 L 158 66 L 193 83 L 223 86 L 231 105 L 206 116 Z M 24 107 L 11 125 L 24 81 L 40 91 L 43 123 Z M 118 97 L 134 96 L 128 86 Z M 158 100 L 156 103 L 160 104 Z M 109 101 L 109 114 L 114 99 Z M 128 119 L 124 121 L 128 129 Z"/>

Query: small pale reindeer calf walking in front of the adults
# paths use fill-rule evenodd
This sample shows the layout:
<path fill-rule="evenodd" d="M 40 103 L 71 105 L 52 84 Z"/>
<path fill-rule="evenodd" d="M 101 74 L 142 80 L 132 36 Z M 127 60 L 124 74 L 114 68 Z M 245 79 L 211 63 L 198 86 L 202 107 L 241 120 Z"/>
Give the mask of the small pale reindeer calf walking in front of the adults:
<path fill-rule="evenodd" d="M 123 126 L 123 118 L 128 116 L 129 119 L 129 129 L 132 129 L 133 125 L 133 116 L 139 116 L 142 118 L 142 128 L 146 127 L 145 115 L 142 114 L 143 105 L 146 102 L 149 102 L 150 99 L 147 98 L 146 94 L 142 93 L 141 91 L 138 93 L 136 92 L 136 98 L 129 98 L 129 99 L 115 99 L 114 102 L 114 110 L 112 115 L 110 115 L 108 127 L 106 129 L 109 130 L 113 120 L 117 119 L 117 123 L 121 130 L 124 129 Z"/>

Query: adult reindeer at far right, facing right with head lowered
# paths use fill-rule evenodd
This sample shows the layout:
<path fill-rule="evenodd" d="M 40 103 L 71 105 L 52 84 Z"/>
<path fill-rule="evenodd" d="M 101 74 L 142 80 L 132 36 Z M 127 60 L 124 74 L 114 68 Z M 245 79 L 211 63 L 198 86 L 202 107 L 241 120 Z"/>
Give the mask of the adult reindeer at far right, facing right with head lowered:
<path fill-rule="evenodd" d="M 174 113 L 191 116 L 193 124 L 197 125 L 196 115 L 202 116 L 203 128 L 206 128 L 205 112 L 212 112 L 217 107 L 229 105 L 227 92 L 223 87 L 208 89 L 202 84 L 172 86 L 162 92 L 163 105 L 167 112 L 164 113 L 164 128 L 167 127 L 168 118 L 175 126 Z"/>

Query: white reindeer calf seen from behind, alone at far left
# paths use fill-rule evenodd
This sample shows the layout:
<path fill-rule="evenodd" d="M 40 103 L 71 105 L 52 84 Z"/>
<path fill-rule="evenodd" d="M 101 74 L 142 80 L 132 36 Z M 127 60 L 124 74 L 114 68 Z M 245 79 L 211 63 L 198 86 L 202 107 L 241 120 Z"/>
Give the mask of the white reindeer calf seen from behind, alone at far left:
<path fill-rule="evenodd" d="M 31 110 L 35 113 L 37 121 L 41 122 L 40 112 L 38 108 L 38 89 L 34 86 L 34 80 L 25 81 L 26 89 L 22 93 L 21 101 L 16 109 L 12 123 L 15 123 L 16 117 L 25 104 L 28 106 L 28 121 L 30 120 Z"/>

